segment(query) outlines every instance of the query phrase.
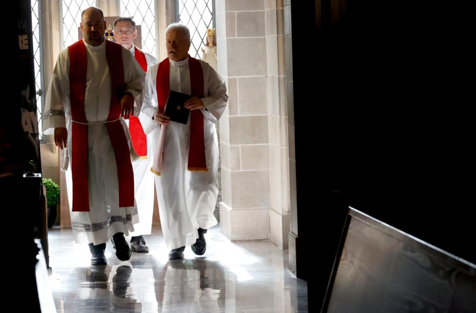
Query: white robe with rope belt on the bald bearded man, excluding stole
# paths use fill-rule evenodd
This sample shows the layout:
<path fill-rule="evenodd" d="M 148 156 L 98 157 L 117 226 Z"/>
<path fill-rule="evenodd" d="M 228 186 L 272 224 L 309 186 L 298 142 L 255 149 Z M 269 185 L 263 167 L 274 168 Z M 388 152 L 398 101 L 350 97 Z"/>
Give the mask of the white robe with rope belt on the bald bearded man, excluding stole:
<path fill-rule="evenodd" d="M 84 40 L 83 40 L 84 41 Z M 91 46 L 84 41 L 87 53 L 86 91 L 84 110 L 88 121 L 88 176 L 89 212 L 72 211 L 71 178 L 71 104 L 69 99 L 69 52 L 63 50 L 55 66 L 46 95 L 43 117 L 44 133 L 53 133 L 56 127 L 68 131 L 65 150 L 66 186 L 71 216 L 71 227 L 76 243 L 99 245 L 107 242 L 114 234 L 134 230 L 138 222 L 137 208 L 119 208 L 118 167 L 106 120 L 111 105 L 111 74 L 106 59 L 106 41 Z M 121 47 L 122 48 L 122 47 Z M 124 92 L 130 92 L 137 103 L 142 101 L 145 73 L 132 54 L 122 48 L 124 67 Z M 122 118 L 129 149 L 131 142 L 127 126 Z M 135 155 L 133 149 L 131 154 Z M 120 169 L 119 169 L 120 170 Z"/>

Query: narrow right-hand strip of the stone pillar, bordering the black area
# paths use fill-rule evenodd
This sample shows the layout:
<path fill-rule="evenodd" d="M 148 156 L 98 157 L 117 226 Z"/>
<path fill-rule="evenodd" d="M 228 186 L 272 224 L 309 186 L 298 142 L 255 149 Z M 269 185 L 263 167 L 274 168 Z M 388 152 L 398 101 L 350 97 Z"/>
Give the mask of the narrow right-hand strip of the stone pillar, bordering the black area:
<path fill-rule="evenodd" d="M 270 239 L 288 248 L 290 223 L 288 108 L 283 0 L 265 1 L 271 207 Z"/>

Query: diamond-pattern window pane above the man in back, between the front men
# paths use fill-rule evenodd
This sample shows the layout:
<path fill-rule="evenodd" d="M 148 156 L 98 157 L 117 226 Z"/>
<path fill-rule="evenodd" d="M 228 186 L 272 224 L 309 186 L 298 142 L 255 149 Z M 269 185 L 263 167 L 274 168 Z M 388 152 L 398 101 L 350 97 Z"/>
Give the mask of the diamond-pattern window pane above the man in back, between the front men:
<path fill-rule="evenodd" d="M 121 16 L 132 16 L 136 25 L 140 25 L 142 32 L 142 50 L 152 55 L 156 54 L 155 45 L 155 14 L 154 0 L 120 0 Z"/>

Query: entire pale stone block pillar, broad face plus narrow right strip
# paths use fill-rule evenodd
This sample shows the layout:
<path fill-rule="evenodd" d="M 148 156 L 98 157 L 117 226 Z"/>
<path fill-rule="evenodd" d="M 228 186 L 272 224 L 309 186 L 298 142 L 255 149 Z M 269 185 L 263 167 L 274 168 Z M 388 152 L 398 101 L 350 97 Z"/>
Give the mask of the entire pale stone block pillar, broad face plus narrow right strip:
<path fill-rule="evenodd" d="M 231 240 L 270 239 L 287 249 L 291 190 L 284 1 L 216 4 L 218 70 L 229 93 L 220 120 L 221 230 Z"/>

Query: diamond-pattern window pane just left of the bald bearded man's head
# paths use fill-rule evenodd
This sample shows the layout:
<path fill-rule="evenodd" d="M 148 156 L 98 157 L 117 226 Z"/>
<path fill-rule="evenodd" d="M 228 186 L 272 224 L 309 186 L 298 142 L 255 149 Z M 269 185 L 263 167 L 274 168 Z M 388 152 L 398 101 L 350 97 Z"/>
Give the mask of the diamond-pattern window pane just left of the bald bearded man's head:
<path fill-rule="evenodd" d="M 61 0 L 63 13 L 63 49 L 78 41 L 81 12 L 96 6 L 96 0 Z"/>

